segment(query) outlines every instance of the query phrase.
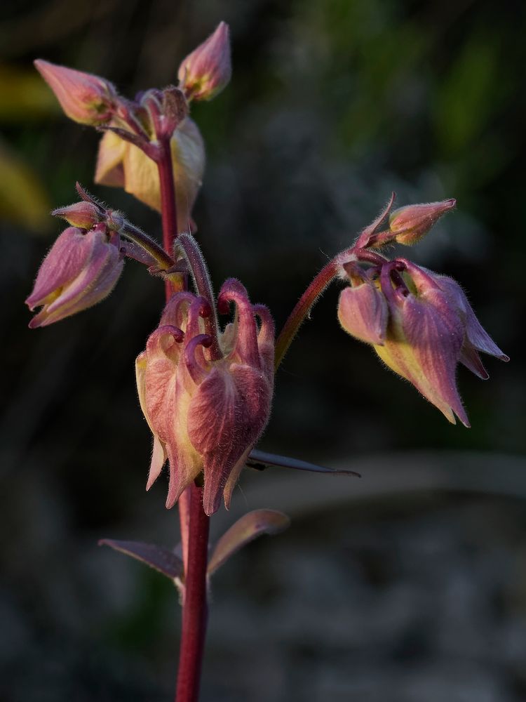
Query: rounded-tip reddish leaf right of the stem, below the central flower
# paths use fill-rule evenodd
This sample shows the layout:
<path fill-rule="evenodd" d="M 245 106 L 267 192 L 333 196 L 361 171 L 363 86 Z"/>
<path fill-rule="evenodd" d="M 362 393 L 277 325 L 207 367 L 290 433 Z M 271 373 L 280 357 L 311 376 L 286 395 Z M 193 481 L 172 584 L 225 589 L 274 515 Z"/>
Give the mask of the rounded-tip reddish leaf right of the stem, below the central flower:
<path fill-rule="evenodd" d="M 243 515 L 217 541 L 208 562 L 208 575 L 226 562 L 240 548 L 262 534 L 279 534 L 290 524 L 290 519 L 277 510 L 254 510 Z"/>

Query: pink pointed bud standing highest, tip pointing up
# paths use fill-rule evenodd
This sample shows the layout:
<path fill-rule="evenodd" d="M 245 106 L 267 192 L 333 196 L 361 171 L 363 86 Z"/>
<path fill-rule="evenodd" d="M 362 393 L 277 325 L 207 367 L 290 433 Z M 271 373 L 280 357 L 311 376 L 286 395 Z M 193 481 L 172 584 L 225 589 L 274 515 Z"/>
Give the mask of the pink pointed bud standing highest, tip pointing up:
<path fill-rule="evenodd" d="M 187 100 L 211 100 L 227 86 L 231 73 L 229 26 L 220 22 L 182 61 L 177 77 Z"/>

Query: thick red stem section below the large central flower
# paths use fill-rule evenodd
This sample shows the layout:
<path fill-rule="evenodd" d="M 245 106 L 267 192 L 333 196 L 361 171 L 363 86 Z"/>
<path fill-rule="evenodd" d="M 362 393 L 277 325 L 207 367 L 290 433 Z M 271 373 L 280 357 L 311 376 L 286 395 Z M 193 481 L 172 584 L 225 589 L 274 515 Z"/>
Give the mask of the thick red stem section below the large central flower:
<path fill-rule="evenodd" d="M 203 510 L 203 488 L 191 485 L 189 491 L 188 569 L 182 609 L 179 673 L 175 694 L 177 702 L 198 701 L 208 618 L 206 567 L 210 517 Z"/>

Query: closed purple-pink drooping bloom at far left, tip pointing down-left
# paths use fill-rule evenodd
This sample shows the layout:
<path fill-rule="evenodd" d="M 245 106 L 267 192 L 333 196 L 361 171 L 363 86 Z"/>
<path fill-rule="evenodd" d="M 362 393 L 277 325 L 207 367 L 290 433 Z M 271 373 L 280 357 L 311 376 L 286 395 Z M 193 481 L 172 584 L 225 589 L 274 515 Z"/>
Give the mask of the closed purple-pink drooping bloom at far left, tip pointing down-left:
<path fill-rule="evenodd" d="M 42 261 L 26 300 L 30 310 L 42 307 L 29 327 L 58 322 L 103 300 L 114 288 L 123 263 L 119 235 L 110 235 L 103 224 L 88 232 L 68 227 Z"/>

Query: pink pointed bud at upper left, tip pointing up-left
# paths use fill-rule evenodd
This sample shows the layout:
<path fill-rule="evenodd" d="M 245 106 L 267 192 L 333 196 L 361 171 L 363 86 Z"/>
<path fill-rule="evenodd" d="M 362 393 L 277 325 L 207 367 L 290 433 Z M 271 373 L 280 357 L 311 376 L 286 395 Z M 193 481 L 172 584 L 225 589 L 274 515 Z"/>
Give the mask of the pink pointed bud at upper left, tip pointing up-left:
<path fill-rule="evenodd" d="M 91 126 L 111 119 L 117 93 L 109 81 L 42 59 L 36 60 L 34 65 L 69 119 Z"/>

